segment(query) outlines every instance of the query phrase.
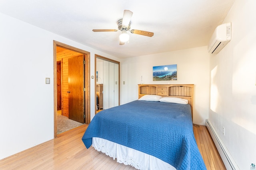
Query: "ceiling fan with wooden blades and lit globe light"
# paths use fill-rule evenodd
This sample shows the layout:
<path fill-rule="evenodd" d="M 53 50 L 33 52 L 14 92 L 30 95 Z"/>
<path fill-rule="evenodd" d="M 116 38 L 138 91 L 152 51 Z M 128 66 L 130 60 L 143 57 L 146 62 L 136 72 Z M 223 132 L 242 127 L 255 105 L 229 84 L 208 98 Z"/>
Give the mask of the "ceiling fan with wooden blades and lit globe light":
<path fill-rule="evenodd" d="M 119 36 L 119 45 L 124 45 L 125 42 L 129 40 L 129 35 L 126 33 L 126 31 L 130 31 L 131 33 L 134 34 L 139 34 L 139 35 L 145 35 L 148 37 L 152 37 L 154 33 L 148 32 L 148 31 L 141 31 L 138 29 L 131 29 L 130 30 L 130 20 L 132 18 L 132 12 L 130 10 L 124 10 L 124 16 L 120 20 L 117 21 L 118 29 L 122 31 L 122 33 Z M 118 31 L 117 29 L 92 29 L 94 32 L 107 32 L 107 31 Z"/>

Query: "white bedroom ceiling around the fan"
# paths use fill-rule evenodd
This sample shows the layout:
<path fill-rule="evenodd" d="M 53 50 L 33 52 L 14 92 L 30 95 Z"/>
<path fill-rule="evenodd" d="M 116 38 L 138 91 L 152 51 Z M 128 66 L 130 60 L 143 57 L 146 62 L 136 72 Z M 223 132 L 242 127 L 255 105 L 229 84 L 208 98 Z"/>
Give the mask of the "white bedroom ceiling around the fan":
<path fill-rule="evenodd" d="M 0 12 L 118 58 L 136 57 L 208 45 L 234 0 L 0 0 Z M 133 12 L 131 29 L 119 45 L 124 10 Z"/>

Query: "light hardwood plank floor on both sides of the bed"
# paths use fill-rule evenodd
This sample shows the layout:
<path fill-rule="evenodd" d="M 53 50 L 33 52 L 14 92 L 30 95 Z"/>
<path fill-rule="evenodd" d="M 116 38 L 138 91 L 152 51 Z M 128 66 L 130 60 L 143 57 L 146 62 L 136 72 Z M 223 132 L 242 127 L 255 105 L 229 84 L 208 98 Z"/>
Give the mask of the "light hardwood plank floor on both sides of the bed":
<path fill-rule="evenodd" d="M 86 149 L 82 135 L 88 125 L 82 125 L 42 143 L 0 160 L 1 170 L 135 170 L 98 152 Z M 194 125 L 194 134 L 207 170 L 226 169 L 206 126 Z"/>

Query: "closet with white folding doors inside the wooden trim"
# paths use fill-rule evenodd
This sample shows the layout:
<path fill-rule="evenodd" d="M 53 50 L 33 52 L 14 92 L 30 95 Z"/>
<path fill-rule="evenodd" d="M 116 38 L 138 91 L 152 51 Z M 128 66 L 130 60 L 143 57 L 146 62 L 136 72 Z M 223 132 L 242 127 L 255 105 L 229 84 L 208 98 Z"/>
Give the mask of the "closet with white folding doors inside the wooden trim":
<path fill-rule="evenodd" d="M 96 57 L 96 95 L 97 87 L 102 86 L 103 109 L 108 109 L 120 104 L 119 100 L 119 65 L 118 61 L 113 61 L 102 56 Z M 98 93 L 99 94 L 99 93 Z M 100 101 L 100 95 L 98 100 Z"/>

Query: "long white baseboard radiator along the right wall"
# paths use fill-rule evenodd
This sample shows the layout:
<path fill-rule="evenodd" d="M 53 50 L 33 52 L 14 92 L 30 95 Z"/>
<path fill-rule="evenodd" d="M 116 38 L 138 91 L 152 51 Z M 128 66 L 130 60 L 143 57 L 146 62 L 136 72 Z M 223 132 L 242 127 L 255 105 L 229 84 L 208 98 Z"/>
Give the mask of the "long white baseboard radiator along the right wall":
<path fill-rule="evenodd" d="M 222 161 L 224 162 L 224 165 L 226 166 L 227 170 L 239 170 L 238 166 L 234 162 L 234 159 L 232 158 L 231 154 L 229 153 L 228 149 L 220 139 L 218 133 L 216 133 L 216 130 L 212 126 L 212 123 L 209 121 L 209 119 L 205 120 L 205 125 L 210 132 L 210 135 L 212 137 L 212 140 L 214 141 L 214 144 L 216 148 L 218 149 L 218 152 L 220 154 L 220 157 L 222 158 Z"/>

